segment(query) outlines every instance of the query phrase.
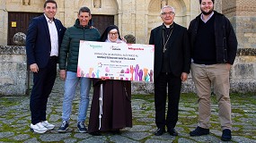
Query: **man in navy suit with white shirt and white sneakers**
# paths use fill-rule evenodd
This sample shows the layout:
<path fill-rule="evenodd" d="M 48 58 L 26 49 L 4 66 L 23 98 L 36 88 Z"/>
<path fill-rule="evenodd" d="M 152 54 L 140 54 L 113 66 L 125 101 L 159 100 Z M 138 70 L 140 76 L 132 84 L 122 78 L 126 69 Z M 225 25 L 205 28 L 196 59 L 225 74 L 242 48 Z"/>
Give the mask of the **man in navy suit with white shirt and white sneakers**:
<path fill-rule="evenodd" d="M 57 76 L 57 57 L 66 28 L 54 18 L 57 3 L 47 0 L 44 14 L 33 18 L 26 38 L 28 65 L 33 72 L 31 130 L 44 133 L 54 129 L 46 119 L 48 97 Z"/>

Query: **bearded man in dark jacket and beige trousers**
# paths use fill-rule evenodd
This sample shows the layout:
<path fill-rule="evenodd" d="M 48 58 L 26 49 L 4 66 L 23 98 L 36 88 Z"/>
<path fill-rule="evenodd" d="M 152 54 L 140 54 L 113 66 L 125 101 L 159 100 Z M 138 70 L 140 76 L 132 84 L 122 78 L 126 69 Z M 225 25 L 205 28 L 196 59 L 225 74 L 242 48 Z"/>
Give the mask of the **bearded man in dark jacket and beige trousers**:
<path fill-rule="evenodd" d="M 199 126 L 190 136 L 209 134 L 210 97 L 213 85 L 218 101 L 221 139 L 231 140 L 229 71 L 234 63 L 237 39 L 230 21 L 214 11 L 214 0 L 199 0 L 201 12 L 190 22 L 192 79 L 199 96 Z"/>

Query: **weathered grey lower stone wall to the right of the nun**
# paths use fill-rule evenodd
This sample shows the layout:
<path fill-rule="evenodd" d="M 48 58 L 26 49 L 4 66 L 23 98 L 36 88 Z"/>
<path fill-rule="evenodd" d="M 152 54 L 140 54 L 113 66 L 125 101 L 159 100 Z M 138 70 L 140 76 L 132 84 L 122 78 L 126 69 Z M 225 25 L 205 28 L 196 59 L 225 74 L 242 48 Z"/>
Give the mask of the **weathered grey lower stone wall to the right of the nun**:
<path fill-rule="evenodd" d="M 230 71 L 230 92 L 232 93 L 255 93 L 256 92 L 256 49 L 238 49 L 234 65 Z M 188 80 L 182 83 L 182 93 L 196 92 L 191 74 Z M 133 94 L 154 94 L 154 84 L 133 82 Z"/>

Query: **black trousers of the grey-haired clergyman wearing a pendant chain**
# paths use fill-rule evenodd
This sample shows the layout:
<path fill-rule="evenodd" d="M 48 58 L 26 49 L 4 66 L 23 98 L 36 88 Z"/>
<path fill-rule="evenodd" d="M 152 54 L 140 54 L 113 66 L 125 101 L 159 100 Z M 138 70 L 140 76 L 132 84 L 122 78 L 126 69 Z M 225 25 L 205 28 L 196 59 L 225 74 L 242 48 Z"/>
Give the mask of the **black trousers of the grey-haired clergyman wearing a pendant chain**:
<path fill-rule="evenodd" d="M 176 77 L 172 73 L 162 72 L 154 79 L 155 124 L 160 129 L 165 128 L 165 125 L 167 130 L 172 129 L 178 122 L 181 77 Z M 165 119 L 167 86 L 168 109 Z"/>

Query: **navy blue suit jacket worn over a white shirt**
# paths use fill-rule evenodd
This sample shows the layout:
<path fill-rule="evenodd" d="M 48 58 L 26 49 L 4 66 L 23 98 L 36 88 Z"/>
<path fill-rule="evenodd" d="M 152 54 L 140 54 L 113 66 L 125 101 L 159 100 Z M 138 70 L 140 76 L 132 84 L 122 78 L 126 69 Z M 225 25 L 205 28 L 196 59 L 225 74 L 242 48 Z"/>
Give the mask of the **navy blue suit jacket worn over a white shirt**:
<path fill-rule="evenodd" d="M 58 48 L 60 48 L 66 28 L 61 21 L 54 19 L 54 22 L 57 28 Z M 44 68 L 49 62 L 50 51 L 49 27 L 44 14 L 42 14 L 31 20 L 27 31 L 26 53 L 28 65 L 37 63 L 39 68 Z"/>

